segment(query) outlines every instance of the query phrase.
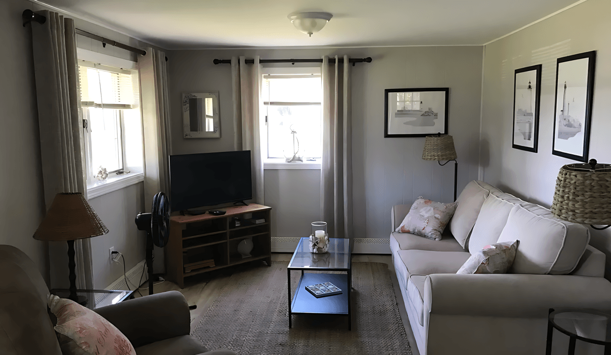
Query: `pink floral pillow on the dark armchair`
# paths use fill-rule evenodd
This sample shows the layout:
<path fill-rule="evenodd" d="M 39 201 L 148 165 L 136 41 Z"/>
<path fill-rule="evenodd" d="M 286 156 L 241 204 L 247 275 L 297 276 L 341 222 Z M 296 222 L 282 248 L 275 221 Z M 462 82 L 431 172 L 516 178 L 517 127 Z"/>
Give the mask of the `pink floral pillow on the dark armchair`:
<path fill-rule="evenodd" d="M 125 335 L 98 313 L 70 299 L 47 296 L 47 304 L 57 317 L 55 330 L 90 355 L 136 355 Z"/>

